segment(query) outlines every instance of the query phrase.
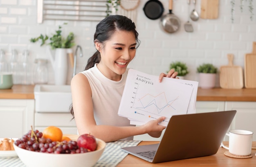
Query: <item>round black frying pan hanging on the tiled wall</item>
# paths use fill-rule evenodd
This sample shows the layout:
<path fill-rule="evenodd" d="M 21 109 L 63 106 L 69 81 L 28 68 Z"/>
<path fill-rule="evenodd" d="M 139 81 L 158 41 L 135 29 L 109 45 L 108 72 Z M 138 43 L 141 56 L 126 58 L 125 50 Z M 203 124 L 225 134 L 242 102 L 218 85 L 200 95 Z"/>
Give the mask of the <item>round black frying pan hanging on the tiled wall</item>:
<path fill-rule="evenodd" d="M 156 20 L 164 13 L 163 4 L 159 0 L 149 0 L 144 5 L 143 11 L 147 18 Z"/>

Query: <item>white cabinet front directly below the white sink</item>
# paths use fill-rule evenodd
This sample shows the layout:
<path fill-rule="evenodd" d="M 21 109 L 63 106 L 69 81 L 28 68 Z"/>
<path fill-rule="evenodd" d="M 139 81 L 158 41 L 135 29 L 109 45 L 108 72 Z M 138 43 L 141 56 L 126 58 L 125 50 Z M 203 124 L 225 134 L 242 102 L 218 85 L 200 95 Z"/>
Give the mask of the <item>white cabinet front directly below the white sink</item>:
<path fill-rule="evenodd" d="M 48 126 L 61 128 L 63 134 L 77 134 L 76 122 L 70 113 L 35 113 L 35 129 L 43 131 Z"/>

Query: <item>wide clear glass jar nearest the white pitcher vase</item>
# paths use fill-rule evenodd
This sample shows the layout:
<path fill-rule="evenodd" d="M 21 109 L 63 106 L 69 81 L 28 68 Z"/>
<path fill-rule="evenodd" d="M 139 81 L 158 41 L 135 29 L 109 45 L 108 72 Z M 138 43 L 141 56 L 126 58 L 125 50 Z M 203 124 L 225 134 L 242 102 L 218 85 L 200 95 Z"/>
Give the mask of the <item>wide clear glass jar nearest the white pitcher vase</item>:
<path fill-rule="evenodd" d="M 36 59 L 33 73 L 34 84 L 48 83 L 48 68 L 46 59 Z"/>

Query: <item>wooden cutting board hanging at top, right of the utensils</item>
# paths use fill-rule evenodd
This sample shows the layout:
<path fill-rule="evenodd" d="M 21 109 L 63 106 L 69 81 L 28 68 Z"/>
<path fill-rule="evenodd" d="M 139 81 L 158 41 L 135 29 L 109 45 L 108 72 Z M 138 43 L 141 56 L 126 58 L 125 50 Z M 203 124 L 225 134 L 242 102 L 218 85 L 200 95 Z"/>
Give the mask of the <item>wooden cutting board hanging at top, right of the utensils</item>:
<path fill-rule="evenodd" d="M 201 0 L 200 18 L 216 19 L 219 16 L 219 0 Z"/>

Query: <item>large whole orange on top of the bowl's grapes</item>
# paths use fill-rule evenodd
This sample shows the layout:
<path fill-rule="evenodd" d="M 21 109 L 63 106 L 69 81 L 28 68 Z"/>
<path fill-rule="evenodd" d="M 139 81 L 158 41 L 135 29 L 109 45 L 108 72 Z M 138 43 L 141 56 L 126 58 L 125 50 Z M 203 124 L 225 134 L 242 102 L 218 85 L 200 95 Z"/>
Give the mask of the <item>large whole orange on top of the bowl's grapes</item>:
<path fill-rule="evenodd" d="M 49 138 L 52 141 L 60 142 L 62 140 L 62 131 L 58 127 L 49 126 L 49 127 L 45 128 L 45 130 L 43 131 L 43 137 Z"/>

